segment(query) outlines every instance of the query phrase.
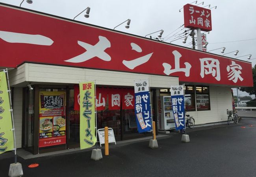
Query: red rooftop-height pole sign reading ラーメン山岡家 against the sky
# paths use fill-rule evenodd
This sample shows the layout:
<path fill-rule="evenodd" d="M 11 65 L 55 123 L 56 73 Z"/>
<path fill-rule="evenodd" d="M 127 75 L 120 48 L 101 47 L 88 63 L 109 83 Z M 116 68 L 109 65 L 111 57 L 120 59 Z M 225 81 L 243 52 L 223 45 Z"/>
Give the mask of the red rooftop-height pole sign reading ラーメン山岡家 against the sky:
<path fill-rule="evenodd" d="M 184 27 L 211 31 L 211 10 L 186 4 L 184 7 Z"/>

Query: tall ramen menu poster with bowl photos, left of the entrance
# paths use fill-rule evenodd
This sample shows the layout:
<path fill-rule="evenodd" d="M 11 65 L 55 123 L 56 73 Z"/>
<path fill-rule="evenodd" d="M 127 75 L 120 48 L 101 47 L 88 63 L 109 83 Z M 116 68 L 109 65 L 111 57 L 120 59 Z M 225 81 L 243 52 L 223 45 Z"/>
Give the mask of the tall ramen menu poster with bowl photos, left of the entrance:
<path fill-rule="evenodd" d="M 39 147 L 66 144 L 66 92 L 39 92 Z"/>

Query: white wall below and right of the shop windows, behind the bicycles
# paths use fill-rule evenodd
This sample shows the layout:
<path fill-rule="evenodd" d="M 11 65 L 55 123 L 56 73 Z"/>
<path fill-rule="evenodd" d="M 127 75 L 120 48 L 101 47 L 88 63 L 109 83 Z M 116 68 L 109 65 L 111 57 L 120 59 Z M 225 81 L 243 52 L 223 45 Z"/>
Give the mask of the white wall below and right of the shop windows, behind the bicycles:
<path fill-rule="evenodd" d="M 229 87 L 210 86 L 209 89 L 211 110 L 187 112 L 195 119 L 195 125 L 226 121 L 226 110 L 232 110 L 232 94 Z"/>

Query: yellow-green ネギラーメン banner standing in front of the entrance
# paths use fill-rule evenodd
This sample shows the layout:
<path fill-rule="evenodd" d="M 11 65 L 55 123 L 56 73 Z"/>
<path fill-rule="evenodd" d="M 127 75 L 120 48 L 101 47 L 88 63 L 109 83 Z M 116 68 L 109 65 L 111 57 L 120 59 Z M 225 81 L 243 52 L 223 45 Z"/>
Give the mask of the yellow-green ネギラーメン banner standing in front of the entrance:
<path fill-rule="evenodd" d="M 86 149 L 96 143 L 95 136 L 95 83 L 79 83 L 80 89 L 80 148 Z"/>

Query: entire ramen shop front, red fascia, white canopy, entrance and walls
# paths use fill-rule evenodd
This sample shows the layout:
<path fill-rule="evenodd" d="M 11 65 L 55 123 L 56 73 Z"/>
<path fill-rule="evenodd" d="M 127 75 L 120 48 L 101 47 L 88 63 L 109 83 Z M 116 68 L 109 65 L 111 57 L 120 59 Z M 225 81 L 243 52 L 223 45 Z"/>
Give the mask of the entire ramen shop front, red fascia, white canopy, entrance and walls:
<path fill-rule="evenodd" d="M 136 79 L 149 79 L 158 129 L 163 129 L 160 100 L 170 95 L 171 85 L 185 84 L 186 112 L 196 125 L 226 121 L 226 109 L 232 109 L 231 88 L 252 86 L 249 62 L 6 4 L 0 9 L 0 69 L 13 68 L 8 73 L 17 148 L 34 154 L 79 147 L 75 92 L 80 81 L 95 81 L 97 127 L 113 128 L 117 140 L 151 136 L 137 133 L 134 108 L 109 104 L 111 94 L 132 95 Z M 42 104 L 49 96 L 62 98 L 63 112 L 42 119 Z M 61 125 L 47 129 L 49 121 Z M 41 144 L 54 136 L 61 141 Z"/>

